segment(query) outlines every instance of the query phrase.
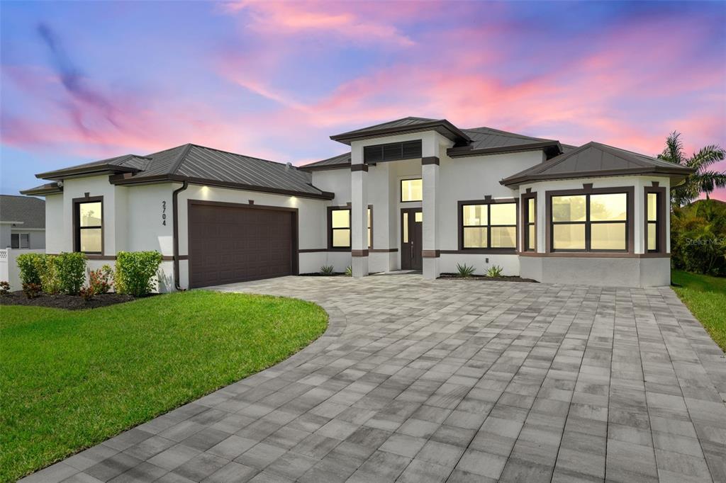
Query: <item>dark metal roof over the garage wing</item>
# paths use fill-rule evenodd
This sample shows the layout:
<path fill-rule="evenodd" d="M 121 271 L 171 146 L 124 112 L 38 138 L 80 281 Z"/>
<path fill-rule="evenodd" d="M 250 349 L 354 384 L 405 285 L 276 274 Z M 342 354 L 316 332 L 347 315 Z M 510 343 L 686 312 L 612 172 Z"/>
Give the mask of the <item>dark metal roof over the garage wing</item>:
<path fill-rule="evenodd" d="M 261 160 L 221 151 L 197 144 L 184 144 L 160 152 L 111 158 L 73 166 L 38 178 L 62 178 L 86 173 L 113 172 L 115 184 L 158 183 L 161 181 L 191 181 L 210 186 L 227 186 L 252 191 L 291 194 L 302 197 L 332 199 L 333 194 L 312 186 L 310 173 L 280 162 Z M 38 194 L 37 190 L 24 191 Z"/>

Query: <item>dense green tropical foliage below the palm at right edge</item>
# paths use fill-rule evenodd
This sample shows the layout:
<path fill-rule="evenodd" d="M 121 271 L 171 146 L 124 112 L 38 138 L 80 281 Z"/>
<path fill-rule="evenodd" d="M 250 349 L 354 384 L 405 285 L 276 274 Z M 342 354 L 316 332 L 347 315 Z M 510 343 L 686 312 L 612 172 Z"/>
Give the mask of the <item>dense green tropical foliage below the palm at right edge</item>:
<path fill-rule="evenodd" d="M 726 204 L 701 199 L 673 210 L 671 262 L 674 268 L 726 276 Z"/>

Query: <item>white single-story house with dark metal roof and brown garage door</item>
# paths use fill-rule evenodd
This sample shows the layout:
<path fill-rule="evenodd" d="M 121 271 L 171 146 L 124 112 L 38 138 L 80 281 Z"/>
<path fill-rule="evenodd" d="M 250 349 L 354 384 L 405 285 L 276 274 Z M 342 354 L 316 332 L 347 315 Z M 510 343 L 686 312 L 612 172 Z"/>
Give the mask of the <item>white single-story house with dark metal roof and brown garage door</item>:
<path fill-rule="evenodd" d="M 163 290 L 318 271 L 425 278 L 501 265 L 539 281 L 670 281 L 668 194 L 690 170 L 406 117 L 331 136 L 351 152 L 301 168 L 186 144 L 49 173 L 47 251 L 107 263 L 162 253 Z M 482 286 L 482 289 L 486 289 Z"/>

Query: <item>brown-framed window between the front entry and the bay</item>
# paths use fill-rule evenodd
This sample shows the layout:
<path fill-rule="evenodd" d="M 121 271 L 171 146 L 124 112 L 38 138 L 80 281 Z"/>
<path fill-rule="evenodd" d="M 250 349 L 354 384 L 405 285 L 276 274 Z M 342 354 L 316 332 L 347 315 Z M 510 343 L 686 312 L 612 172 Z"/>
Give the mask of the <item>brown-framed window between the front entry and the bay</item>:
<path fill-rule="evenodd" d="M 516 202 L 460 202 L 461 249 L 514 251 L 516 247 Z"/>

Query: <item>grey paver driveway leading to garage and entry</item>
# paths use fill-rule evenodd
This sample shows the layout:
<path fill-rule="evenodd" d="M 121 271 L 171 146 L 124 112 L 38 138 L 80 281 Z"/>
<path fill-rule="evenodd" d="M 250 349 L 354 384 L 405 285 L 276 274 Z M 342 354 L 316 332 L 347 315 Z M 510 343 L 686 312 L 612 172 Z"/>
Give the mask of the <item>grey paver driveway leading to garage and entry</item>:
<path fill-rule="evenodd" d="M 415 274 L 217 289 L 312 300 L 330 327 L 30 479 L 726 482 L 726 360 L 671 289 Z"/>

